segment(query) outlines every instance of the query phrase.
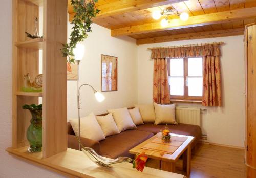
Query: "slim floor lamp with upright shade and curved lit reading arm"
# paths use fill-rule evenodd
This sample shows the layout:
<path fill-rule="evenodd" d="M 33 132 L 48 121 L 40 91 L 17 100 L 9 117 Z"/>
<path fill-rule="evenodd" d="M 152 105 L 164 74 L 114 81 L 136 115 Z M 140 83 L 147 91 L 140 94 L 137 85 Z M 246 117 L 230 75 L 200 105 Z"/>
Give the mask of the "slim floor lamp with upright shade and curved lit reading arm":
<path fill-rule="evenodd" d="M 84 46 L 82 44 L 77 44 L 73 53 L 74 53 L 75 61 L 77 63 L 77 109 L 78 109 L 78 139 L 79 139 L 78 144 L 79 144 L 79 150 L 81 150 L 81 145 L 80 145 L 80 142 L 81 142 L 81 140 L 80 140 L 80 108 L 81 108 L 80 89 L 82 86 L 90 86 L 92 88 L 95 98 L 98 102 L 102 102 L 105 99 L 105 97 L 101 93 L 97 92 L 92 85 L 82 84 L 79 86 L 79 64 L 84 55 Z"/>

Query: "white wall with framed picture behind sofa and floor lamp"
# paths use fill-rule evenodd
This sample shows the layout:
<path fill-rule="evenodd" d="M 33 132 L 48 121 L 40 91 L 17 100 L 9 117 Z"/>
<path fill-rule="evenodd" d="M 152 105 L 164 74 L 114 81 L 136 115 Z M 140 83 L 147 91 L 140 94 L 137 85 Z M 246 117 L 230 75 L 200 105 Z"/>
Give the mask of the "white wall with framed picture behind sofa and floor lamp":
<path fill-rule="evenodd" d="M 68 24 L 68 32 L 71 32 Z M 81 88 L 81 116 L 106 109 L 129 107 L 137 103 L 137 46 L 129 37 L 113 38 L 110 30 L 93 24 L 92 33 L 83 42 L 85 55 L 79 64 L 80 84 L 91 84 L 101 90 L 101 54 L 118 57 L 118 91 L 102 92 L 105 100 L 98 103 L 90 87 Z M 69 34 L 68 33 L 68 34 Z M 68 81 L 68 118 L 77 117 L 77 81 Z"/>

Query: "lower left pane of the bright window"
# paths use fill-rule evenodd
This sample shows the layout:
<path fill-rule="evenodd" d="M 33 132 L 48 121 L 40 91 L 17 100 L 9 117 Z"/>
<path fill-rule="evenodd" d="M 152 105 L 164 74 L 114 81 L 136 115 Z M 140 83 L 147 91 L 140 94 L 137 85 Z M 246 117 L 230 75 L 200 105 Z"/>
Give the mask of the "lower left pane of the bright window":
<path fill-rule="evenodd" d="M 184 77 L 169 77 L 170 95 L 184 95 Z"/>

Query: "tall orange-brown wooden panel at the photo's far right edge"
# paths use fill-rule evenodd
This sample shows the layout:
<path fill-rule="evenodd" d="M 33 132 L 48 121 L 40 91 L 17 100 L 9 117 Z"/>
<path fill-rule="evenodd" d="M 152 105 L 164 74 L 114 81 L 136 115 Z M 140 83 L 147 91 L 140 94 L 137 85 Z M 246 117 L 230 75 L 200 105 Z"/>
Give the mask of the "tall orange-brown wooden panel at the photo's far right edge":
<path fill-rule="evenodd" d="M 247 28 L 246 173 L 256 177 L 256 25 Z"/>

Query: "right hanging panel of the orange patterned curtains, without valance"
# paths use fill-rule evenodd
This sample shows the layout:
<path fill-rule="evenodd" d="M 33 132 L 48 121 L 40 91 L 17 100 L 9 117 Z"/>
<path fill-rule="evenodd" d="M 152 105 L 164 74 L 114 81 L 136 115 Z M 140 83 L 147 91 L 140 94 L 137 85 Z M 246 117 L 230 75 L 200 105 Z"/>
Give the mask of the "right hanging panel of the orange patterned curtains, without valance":
<path fill-rule="evenodd" d="M 203 58 L 203 106 L 221 106 L 220 56 Z"/>

